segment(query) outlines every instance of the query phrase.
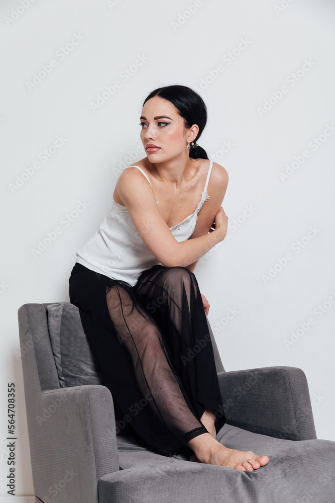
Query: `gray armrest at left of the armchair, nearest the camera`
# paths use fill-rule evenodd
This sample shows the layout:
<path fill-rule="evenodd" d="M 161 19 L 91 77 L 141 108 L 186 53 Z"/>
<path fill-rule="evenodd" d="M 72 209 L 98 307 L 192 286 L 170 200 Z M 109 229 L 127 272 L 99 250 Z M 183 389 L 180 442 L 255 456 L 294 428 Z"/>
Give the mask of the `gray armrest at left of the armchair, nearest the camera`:
<path fill-rule="evenodd" d="M 36 495 L 44 503 L 97 503 L 99 478 L 119 470 L 110 391 L 85 385 L 45 390 L 40 397 L 29 428 L 31 456 L 38 465 Z"/>

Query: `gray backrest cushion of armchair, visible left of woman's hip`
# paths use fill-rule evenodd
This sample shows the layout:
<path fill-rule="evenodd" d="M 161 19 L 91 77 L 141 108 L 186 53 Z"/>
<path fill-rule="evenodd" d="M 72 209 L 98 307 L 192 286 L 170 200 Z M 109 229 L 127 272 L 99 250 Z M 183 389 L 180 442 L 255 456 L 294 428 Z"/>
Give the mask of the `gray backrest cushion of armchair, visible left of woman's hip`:
<path fill-rule="evenodd" d="M 48 327 L 62 388 L 104 384 L 86 339 L 79 310 L 70 303 L 49 304 Z"/>

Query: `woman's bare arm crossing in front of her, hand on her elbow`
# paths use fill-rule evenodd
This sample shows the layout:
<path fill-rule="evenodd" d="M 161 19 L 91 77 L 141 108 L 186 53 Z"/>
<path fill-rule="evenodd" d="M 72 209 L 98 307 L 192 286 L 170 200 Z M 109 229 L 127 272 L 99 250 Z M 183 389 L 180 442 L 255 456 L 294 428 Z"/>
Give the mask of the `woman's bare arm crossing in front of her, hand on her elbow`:
<path fill-rule="evenodd" d="M 165 267 L 186 267 L 226 237 L 228 217 L 219 206 L 215 215 L 215 230 L 179 243 L 159 213 L 148 181 L 136 168 L 127 167 L 123 171 L 116 191 L 127 206 L 140 237 Z"/>

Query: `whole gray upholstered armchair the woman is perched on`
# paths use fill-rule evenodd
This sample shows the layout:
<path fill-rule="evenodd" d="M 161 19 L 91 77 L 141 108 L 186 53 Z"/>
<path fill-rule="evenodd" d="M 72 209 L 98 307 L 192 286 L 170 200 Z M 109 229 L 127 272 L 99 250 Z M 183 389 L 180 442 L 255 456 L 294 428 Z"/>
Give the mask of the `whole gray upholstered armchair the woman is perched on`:
<path fill-rule="evenodd" d="M 116 428 L 74 305 L 25 304 L 19 327 L 36 501 L 335 502 L 335 442 L 316 440 L 302 370 L 226 372 L 208 324 L 227 417 L 217 440 L 269 456 L 245 472 L 163 456 Z"/>

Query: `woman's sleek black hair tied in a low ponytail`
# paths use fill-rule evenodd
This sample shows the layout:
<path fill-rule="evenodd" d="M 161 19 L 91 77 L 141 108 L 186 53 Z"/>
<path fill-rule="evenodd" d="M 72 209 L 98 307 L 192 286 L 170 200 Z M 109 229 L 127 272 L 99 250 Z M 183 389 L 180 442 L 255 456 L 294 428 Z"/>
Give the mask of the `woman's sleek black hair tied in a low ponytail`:
<path fill-rule="evenodd" d="M 193 140 L 195 143 L 200 138 L 207 122 L 207 108 L 201 96 L 187 86 L 165 86 L 152 91 L 144 100 L 143 105 L 154 96 L 160 96 L 176 107 L 179 115 L 184 119 L 185 128 L 190 128 L 193 124 L 199 127 L 198 134 Z M 190 145 L 189 155 L 193 159 L 208 159 L 206 151 L 199 145 L 196 147 Z"/>

